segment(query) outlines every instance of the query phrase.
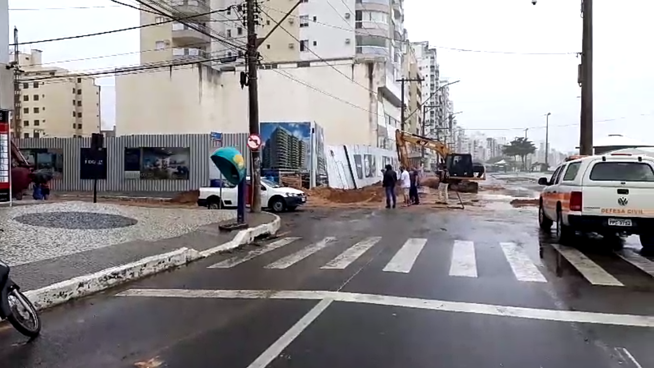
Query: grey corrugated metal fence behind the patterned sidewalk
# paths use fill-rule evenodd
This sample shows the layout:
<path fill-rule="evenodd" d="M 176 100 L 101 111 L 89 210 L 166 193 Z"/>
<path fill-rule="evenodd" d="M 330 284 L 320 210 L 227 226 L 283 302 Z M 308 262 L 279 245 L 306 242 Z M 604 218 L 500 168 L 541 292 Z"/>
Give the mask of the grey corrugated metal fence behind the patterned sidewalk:
<path fill-rule="evenodd" d="M 209 134 L 171 134 L 105 138 L 107 179 L 98 180 L 101 192 L 179 192 L 209 185 L 209 156 L 218 147 L 236 147 L 250 167 L 248 134 L 222 134 L 213 141 Z M 80 179 L 80 149 L 90 147 L 91 138 L 28 138 L 16 141 L 20 149 L 58 149 L 63 153 L 63 175 L 52 180 L 55 191 L 92 191 L 93 180 Z M 125 149 L 169 147 L 190 149 L 188 180 L 125 179 Z"/>

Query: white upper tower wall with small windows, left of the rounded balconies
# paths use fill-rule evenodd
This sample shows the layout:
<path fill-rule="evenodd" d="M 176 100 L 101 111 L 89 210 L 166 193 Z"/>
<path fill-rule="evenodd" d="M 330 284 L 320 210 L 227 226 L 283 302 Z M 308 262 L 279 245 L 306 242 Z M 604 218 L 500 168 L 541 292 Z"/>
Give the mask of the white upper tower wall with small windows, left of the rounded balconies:
<path fill-rule="evenodd" d="M 300 39 L 309 40 L 309 48 L 320 58 L 328 60 L 354 57 L 354 14 L 351 12 L 354 12 L 354 0 L 301 3 L 299 14 L 309 16 L 309 27 L 300 28 Z M 346 18 L 347 13 L 351 13 L 349 19 Z M 314 16 L 317 23 L 313 22 Z M 349 44 L 345 42 L 346 39 L 350 40 Z M 316 46 L 313 46 L 313 41 L 316 41 Z M 313 52 L 300 52 L 301 60 L 318 60 Z"/>

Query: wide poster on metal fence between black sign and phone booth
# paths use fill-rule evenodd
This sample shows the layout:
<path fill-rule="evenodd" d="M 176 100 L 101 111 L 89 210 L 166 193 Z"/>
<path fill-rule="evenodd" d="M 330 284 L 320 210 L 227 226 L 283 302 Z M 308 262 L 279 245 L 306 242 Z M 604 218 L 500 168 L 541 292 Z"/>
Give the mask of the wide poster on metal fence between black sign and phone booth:
<path fill-rule="evenodd" d="M 190 149 L 181 147 L 127 148 L 125 179 L 188 180 Z"/>

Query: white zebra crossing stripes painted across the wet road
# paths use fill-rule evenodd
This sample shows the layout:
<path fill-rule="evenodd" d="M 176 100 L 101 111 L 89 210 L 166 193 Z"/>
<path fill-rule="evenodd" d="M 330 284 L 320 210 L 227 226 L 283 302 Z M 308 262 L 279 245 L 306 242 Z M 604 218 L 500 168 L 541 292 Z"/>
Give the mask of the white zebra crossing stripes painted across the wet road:
<path fill-rule="evenodd" d="M 283 248 L 288 244 L 297 244 L 299 240 L 301 240 L 301 238 L 281 238 L 261 246 L 260 248 L 253 249 L 245 253 L 245 255 L 235 255 L 228 259 L 224 259 L 223 261 L 220 261 L 215 265 L 211 265 L 208 268 L 237 267 L 238 265 L 251 261 L 260 255 L 264 255 L 266 253 Z M 315 265 L 315 263 L 314 265 L 315 267 L 320 267 L 322 270 L 344 270 L 345 268 L 350 267 L 358 259 L 361 259 L 364 254 L 366 254 L 366 252 L 372 253 L 370 252 L 370 249 L 374 248 L 375 246 L 380 246 L 379 244 L 382 241 L 383 238 L 381 236 L 371 236 L 368 238 L 359 239 L 359 241 L 356 243 L 354 243 L 354 241 L 345 243 L 343 240 L 339 240 L 335 236 L 329 236 L 313 244 L 303 244 L 303 248 L 298 246 L 294 253 L 286 255 L 285 257 L 281 257 L 276 261 L 270 261 L 271 263 L 266 265 L 265 268 L 285 269 L 292 267 L 303 259 L 307 259 L 322 251 L 323 249 L 332 246 L 332 244 L 338 243 L 339 246 L 343 246 L 341 249 L 344 249 L 339 255 L 322 265 L 322 267 Z M 411 270 L 415 268 L 415 263 L 419 257 L 421 257 L 422 251 L 428 242 L 434 242 L 438 246 L 430 249 L 430 252 L 434 251 L 434 249 L 442 248 L 444 246 L 443 242 L 440 240 L 409 238 L 404 242 L 404 244 L 402 244 L 399 249 L 397 249 L 394 255 L 392 255 L 392 258 L 382 268 L 382 271 L 398 272 L 404 274 L 410 273 Z M 387 245 L 390 246 L 389 244 Z M 523 246 L 522 244 L 517 244 L 515 242 L 500 242 L 499 245 L 500 249 L 502 249 L 502 255 L 508 264 L 508 267 L 506 267 L 506 274 L 510 275 L 508 276 L 509 278 L 517 280 L 518 282 L 548 282 L 547 278 L 545 278 L 546 273 L 543 273 L 545 268 L 539 267 L 537 263 L 534 262 L 534 259 L 532 259 L 532 257 L 530 257 L 527 252 L 527 246 Z M 456 278 L 468 278 L 471 279 L 470 282 L 473 282 L 473 279 L 481 279 L 485 277 L 483 273 L 479 275 L 479 270 L 477 269 L 477 263 L 487 259 L 487 257 L 481 257 L 479 251 L 482 248 L 479 248 L 479 244 L 475 244 L 475 242 L 470 240 L 453 240 L 445 246 L 451 247 L 451 259 L 449 259 L 449 276 Z M 535 246 L 536 245 L 534 244 L 534 247 Z M 483 244 L 481 247 L 485 247 L 483 248 L 485 250 L 481 251 L 492 250 L 492 247 L 489 248 L 488 244 Z M 572 266 L 572 268 L 574 268 L 576 272 L 579 272 L 579 274 L 581 274 L 581 276 L 583 276 L 583 278 L 585 278 L 590 284 L 619 287 L 625 286 L 621 280 L 618 280 L 615 276 L 611 275 L 610 272 L 602 268 L 602 266 L 606 266 L 606 259 L 599 261 L 598 264 L 576 248 L 559 246 L 557 244 L 553 244 L 552 248 L 556 249 L 560 257 L 566 260 L 566 266 Z M 375 254 L 379 254 L 379 252 L 377 251 Z M 619 258 L 616 257 L 615 262 L 629 263 L 634 267 L 634 272 L 644 272 L 645 274 L 654 278 L 654 261 L 642 257 L 632 249 L 623 249 L 622 251 L 616 252 L 616 254 Z M 477 259 L 477 255 L 479 255 L 479 259 Z M 427 256 L 425 255 L 425 257 Z M 376 267 L 381 268 L 379 263 L 373 263 L 371 265 L 375 264 L 378 265 Z M 376 267 L 371 266 L 366 269 L 374 270 Z M 379 270 L 379 268 L 377 268 L 377 270 Z M 548 276 L 549 278 L 556 277 L 553 275 L 553 272 L 551 272 L 551 274 L 552 276 Z M 497 275 L 494 275 L 494 277 L 496 276 Z"/>

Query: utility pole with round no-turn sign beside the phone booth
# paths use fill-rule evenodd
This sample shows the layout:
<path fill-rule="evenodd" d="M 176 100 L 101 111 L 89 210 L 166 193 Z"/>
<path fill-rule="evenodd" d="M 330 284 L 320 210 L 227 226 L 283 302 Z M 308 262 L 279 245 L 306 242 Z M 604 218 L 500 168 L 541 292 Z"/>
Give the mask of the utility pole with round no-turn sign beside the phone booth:
<path fill-rule="evenodd" d="M 245 59 L 247 61 L 247 86 L 248 86 L 248 109 L 250 117 L 250 134 L 259 134 L 259 92 L 258 92 L 258 62 L 259 52 L 256 39 L 256 26 L 259 23 L 259 6 L 256 0 L 247 0 L 247 14 L 245 22 L 247 23 L 247 52 Z M 252 203 L 250 212 L 261 212 L 261 153 L 259 149 L 250 151 L 252 155 Z"/>

